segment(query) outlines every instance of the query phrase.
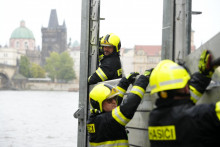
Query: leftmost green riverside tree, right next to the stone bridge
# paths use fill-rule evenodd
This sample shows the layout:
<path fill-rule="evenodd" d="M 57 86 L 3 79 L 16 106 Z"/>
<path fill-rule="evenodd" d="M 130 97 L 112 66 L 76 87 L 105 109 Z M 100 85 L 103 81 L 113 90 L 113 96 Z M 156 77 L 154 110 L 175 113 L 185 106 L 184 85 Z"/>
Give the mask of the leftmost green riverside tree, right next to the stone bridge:
<path fill-rule="evenodd" d="M 30 77 L 30 61 L 27 56 L 21 56 L 19 63 L 19 73 L 26 78 Z"/>

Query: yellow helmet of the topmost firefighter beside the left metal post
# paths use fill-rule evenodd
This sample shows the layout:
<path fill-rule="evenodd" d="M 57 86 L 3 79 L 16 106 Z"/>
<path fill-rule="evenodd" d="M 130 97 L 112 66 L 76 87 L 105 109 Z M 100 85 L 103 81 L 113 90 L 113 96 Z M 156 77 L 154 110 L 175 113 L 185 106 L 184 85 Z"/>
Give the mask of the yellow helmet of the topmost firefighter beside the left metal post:
<path fill-rule="evenodd" d="M 120 38 L 113 33 L 107 34 L 104 37 L 102 37 L 100 44 L 101 46 L 114 46 L 116 52 L 120 52 L 120 48 L 121 48 Z"/>

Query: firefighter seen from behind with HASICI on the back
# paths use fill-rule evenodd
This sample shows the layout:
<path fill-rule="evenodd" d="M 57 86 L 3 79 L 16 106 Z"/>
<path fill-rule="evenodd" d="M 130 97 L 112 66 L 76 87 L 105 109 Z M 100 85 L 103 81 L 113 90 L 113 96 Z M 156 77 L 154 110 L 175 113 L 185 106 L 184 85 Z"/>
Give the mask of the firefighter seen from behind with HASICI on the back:
<path fill-rule="evenodd" d="M 157 93 L 159 98 L 148 122 L 151 147 L 217 145 L 220 139 L 220 101 L 195 105 L 216 68 L 211 64 L 211 57 L 211 53 L 204 50 L 199 72 L 191 77 L 185 68 L 171 60 L 161 61 L 153 70 L 151 94 Z"/>

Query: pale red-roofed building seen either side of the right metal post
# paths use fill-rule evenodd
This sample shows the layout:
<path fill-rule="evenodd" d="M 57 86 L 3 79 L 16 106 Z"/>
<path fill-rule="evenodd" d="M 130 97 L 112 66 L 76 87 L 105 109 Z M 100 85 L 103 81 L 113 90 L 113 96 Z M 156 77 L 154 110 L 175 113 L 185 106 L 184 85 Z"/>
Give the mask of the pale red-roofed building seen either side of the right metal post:
<path fill-rule="evenodd" d="M 125 75 L 130 72 L 143 74 L 161 60 L 161 45 L 135 45 L 133 49 L 121 49 L 121 62 Z M 195 51 L 194 31 L 191 32 L 191 52 Z"/>

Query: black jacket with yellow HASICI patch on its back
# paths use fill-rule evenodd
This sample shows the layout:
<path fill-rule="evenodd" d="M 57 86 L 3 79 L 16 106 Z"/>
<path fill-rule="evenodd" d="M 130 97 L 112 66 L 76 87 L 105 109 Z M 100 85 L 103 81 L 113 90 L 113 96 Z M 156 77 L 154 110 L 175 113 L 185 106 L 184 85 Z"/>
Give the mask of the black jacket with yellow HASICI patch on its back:
<path fill-rule="evenodd" d="M 199 73 L 194 74 L 189 83 L 196 93 L 194 96 L 201 95 L 209 82 L 209 78 Z M 220 102 L 195 105 L 194 100 L 156 100 L 157 108 L 151 111 L 148 123 L 151 147 L 220 145 Z"/>

